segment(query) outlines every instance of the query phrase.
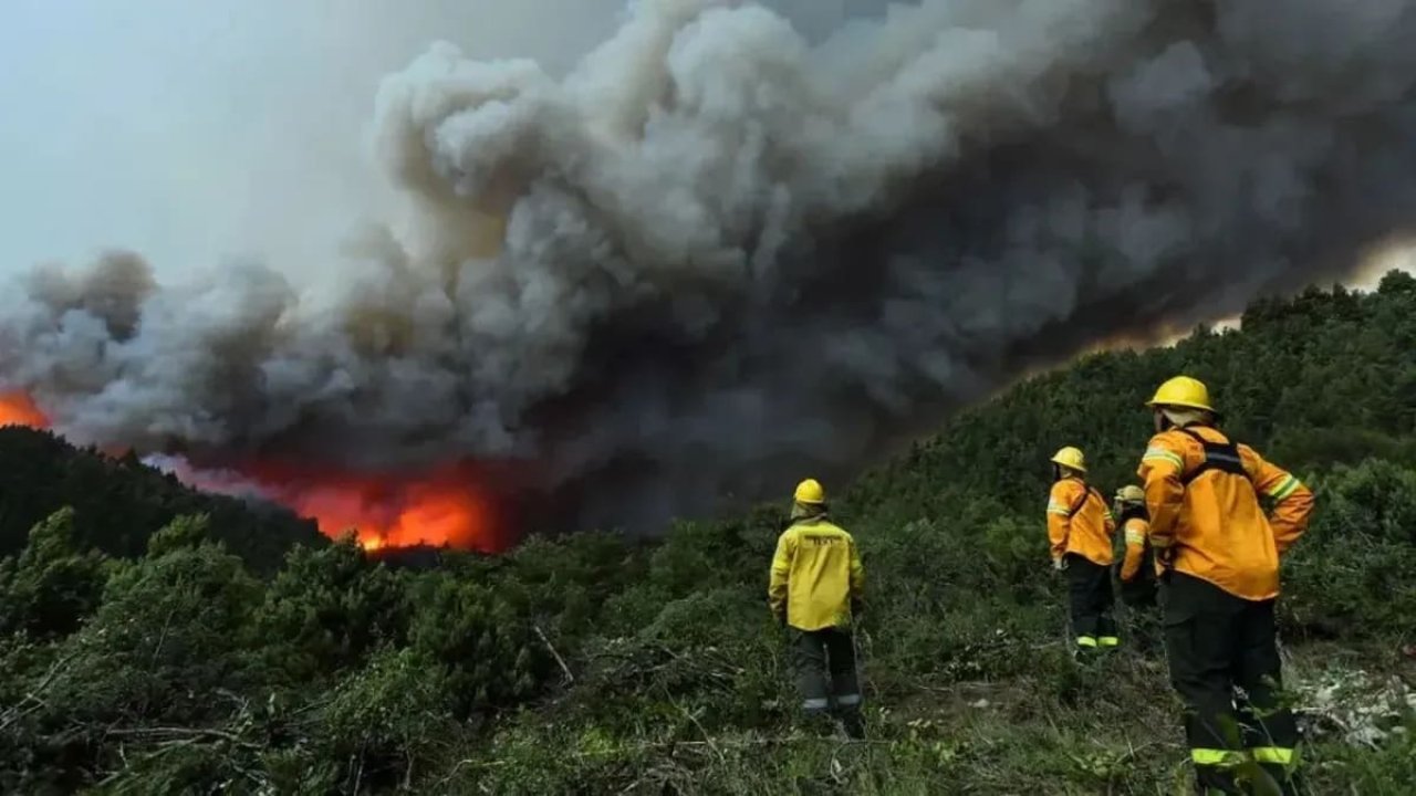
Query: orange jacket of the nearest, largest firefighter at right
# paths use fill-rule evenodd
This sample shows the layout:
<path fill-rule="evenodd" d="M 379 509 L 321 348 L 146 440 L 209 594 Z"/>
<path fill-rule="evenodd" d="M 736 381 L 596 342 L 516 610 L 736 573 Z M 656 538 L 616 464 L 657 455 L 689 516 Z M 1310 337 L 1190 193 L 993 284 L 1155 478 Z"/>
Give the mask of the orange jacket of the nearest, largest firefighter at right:
<path fill-rule="evenodd" d="M 1157 557 L 1168 551 L 1177 572 L 1238 598 L 1279 596 L 1279 555 L 1313 513 L 1313 493 L 1298 479 L 1209 426 L 1153 436 L 1137 472 Z M 1260 494 L 1274 501 L 1272 516 Z"/>

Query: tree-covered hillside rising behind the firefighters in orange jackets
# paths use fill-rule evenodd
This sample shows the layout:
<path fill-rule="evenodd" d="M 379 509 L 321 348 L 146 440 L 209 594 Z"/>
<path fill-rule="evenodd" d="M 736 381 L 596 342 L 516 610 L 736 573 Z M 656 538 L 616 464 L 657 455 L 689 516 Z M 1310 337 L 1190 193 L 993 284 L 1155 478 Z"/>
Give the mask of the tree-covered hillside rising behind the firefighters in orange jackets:
<path fill-rule="evenodd" d="M 1413 295 L 1416 279 L 1395 272 L 1375 296 L 1310 290 L 1250 307 L 1242 331 L 1198 330 L 1170 348 L 1086 357 L 956 416 L 913 455 L 862 479 L 852 501 L 910 514 L 919 501 L 947 510 L 970 493 L 1027 511 L 1063 445 L 1086 449 L 1099 482 L 1127 483 L 1150 429 L 1143 404 L 1177 373 L 1209 385 L 1236 439 L 1291 469 L 1369 457 L 1416 466 Z"/>

